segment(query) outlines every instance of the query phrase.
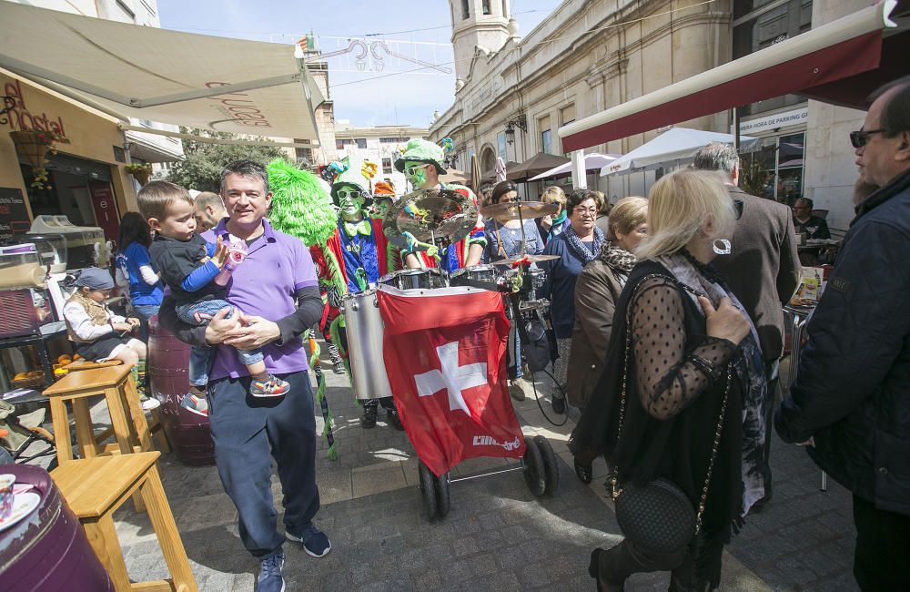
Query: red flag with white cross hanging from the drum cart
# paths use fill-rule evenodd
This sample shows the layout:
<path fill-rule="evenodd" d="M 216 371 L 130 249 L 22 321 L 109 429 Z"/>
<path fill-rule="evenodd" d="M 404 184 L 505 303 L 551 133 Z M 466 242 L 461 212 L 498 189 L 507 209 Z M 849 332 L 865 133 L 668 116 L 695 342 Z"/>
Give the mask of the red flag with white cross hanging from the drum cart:
<path fill-rule="evenodd" d="M 467 458 L 521 458 L 507 386 L 509 320 L 500 293 L 382 286 L 384 358 L 401 423 L 436 475 Z"/>

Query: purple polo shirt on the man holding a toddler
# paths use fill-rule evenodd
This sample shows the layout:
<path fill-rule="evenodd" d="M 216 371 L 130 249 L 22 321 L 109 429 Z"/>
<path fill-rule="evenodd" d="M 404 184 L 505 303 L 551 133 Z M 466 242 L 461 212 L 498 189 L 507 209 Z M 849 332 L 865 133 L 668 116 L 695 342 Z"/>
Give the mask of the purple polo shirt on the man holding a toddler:
<path fill-rule="evenodd" d="M 215 242 L 217 236 L 227 234 L 225 220 L 202 236 Z M 268 220 L 263 219 L 262 226 L 265 231 L 250 245 L 247 259 L 234 270 L 227 284 L 227 300 L 247 314 L 278 321 L 297 310 L 296 294 L 299 289 L 318 285 L 316 268 L 303 242 L 273 230 Z M 308 370 L 307 353 L 300 338 L 283 345 L 268 343 L 262 352 L 270 373 Z M 234 348 L 218 348 L 209 373 L 210 380 L 248 374 Z"/>

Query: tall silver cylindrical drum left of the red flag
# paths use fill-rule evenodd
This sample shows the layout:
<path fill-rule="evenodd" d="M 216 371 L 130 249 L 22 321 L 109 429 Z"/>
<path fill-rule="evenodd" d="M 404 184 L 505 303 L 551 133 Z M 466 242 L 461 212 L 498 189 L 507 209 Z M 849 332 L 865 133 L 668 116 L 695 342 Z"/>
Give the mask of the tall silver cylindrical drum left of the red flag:
<path fill-rule="evenodd" d="M 354 394 L 358 399 L 390 397 L 389 375 L 382 358 L 385 333 L 376 290 L 349 294 L 341 301 Z"/>

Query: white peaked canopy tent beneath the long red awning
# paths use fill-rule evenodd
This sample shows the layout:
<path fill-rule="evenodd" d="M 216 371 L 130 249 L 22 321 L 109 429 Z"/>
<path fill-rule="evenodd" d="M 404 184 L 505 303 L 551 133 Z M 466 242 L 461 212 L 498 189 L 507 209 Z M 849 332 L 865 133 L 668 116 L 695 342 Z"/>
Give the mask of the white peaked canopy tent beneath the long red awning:
<path fill-rule="evenodd" d="M 699 148 L 712 142 L 733 144 L 733 136 L 701 129 L 672 128 L 601 168 L 601 177 L 688 164 Z M 758 148 L 758 143 L 758 138 L 743 136 L 740 138 L 740 149 L 750 151 Z"/>

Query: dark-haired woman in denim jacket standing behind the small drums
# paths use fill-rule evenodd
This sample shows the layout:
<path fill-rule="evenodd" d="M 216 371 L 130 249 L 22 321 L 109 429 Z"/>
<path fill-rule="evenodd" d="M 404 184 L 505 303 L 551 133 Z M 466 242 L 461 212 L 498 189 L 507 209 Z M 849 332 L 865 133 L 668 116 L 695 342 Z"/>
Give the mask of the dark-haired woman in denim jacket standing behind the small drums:
<path fill-rule="evenodd" d="M 497 183 L 490 193 L 490 205 L 518 201 L 518 188 L 511 181 Z M 521 222 L 517 219 L 491 218 L 484 223 L 483 231 L 487 246 L 480 258 L 481 263 L 495 263 L 521 253 Z M 543 251 L 541 235 L 533 219 L 524 220 L 524 252 L 538 255 Z M 509 393 L 516 401 L 524 401 L 524 380 L 521 373 L 521 340 L 512 325 L 510 342 L 515 343 L 516 376 L 509 386 Z"/>

